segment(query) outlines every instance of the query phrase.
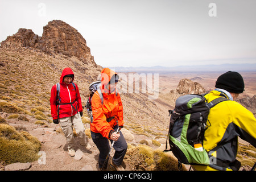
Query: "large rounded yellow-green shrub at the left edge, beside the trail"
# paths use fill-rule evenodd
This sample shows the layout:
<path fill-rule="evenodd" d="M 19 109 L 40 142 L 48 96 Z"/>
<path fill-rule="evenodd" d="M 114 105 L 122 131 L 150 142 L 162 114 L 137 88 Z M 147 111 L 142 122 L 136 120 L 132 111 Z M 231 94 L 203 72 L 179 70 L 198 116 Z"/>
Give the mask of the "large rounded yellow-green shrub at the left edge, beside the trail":
<path fill-rule="evenodd" d="M 6 164 L 33 162 L 39 158 L 41 143 L 26 131 L 19 133 L 13 126 L 0 125 L 0 161 Z"/>

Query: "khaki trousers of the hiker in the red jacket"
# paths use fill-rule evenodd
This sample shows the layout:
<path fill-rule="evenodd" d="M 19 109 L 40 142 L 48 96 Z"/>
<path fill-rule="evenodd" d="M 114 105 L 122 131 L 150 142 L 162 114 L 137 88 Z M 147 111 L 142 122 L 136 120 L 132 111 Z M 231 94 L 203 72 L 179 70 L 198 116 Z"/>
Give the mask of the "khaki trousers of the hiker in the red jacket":
<path fill-rule="evenodd" d="M 75 147 L 75 138 L 73 137 L 73 127 L 75 127 L 77 137 L 79 138 L 79 142 L 82 146 L 86 144 L 86 135 L 84 133 L 85 128 L 82 123 L 82 119 L 80 113 L 73 115 L 71 117 L 60 118 L 60 125 L 65 137 L 67 139 L 68 149 L 74 149 Z"/>

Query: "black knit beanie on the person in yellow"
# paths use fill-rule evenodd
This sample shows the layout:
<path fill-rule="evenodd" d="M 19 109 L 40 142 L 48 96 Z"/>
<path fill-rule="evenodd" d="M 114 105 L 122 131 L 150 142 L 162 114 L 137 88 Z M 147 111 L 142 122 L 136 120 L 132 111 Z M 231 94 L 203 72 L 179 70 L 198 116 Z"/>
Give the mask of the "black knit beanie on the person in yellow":
<path fill-rule="evenodd" d="M 215 87 L 232 93 L 242 93 L 245 84 L 239 73 L 229 71 L 218 77 Z"/>

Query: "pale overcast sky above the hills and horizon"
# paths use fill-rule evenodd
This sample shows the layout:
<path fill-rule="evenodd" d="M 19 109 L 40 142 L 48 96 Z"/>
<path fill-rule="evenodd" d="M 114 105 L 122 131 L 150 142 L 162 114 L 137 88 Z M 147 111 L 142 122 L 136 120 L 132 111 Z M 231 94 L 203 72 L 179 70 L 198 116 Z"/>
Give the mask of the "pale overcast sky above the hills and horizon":
<path fill-rule="evenodd" d="M 0 0 L 0 42 L 19 28 L 42 36 L 60 19 L 103 67 L 256 63 L 255 9 L 255 0 Z"/>

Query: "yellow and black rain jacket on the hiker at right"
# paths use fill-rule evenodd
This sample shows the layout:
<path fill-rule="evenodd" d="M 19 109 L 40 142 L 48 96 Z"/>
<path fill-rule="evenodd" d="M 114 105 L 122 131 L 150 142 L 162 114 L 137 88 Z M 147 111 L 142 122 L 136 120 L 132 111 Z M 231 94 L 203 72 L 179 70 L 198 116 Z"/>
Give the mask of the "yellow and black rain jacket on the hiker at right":
<path fill-rule="evenodd" d="M 210 102 L 222 97 L 221 93 L 213 90 L 205 98 Z M 236 162 L 238 137 L 256 147 L 256 119 L 253 113 L 236 101 L 224 101 L 212 107 L 207 125 L 203 146 L 212 156 L 213 165 L 193 165 L 198 171 L 232 170 Z"/>

